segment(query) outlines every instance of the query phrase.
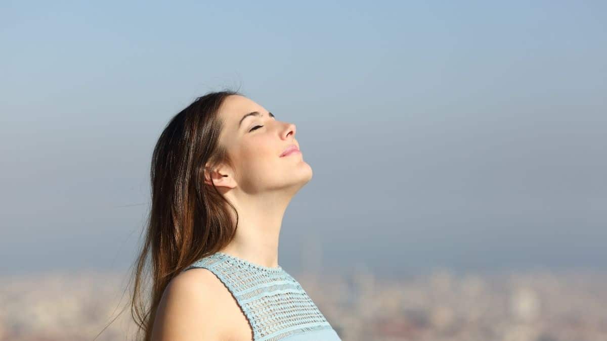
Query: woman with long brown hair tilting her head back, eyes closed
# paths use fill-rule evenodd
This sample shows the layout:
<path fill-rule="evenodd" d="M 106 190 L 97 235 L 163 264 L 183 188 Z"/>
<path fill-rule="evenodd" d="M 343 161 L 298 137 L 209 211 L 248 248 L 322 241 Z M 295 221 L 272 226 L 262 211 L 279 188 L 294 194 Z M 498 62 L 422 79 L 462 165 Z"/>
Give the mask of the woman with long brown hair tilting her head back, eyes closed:
<path fill-rule="evenodd" d="M 285 209 L 312 178 L 295 134 L 227 90 L 197 98 L 164 128 L 131 300 L 138 339 L 340 340 L 278 263 Z"/>

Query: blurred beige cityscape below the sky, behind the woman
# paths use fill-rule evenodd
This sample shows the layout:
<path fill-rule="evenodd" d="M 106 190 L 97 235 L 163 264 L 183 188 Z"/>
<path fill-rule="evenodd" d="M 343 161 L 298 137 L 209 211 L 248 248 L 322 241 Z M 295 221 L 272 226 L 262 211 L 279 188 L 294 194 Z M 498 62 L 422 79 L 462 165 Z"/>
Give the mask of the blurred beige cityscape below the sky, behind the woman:
<path fill-rule="evenodd" d="M 345 341 L 607 340 L 604 272 L 291 274 Z M 123 272 L 3 277 L 0 340 L 132 340 L 127 281 Z"/>

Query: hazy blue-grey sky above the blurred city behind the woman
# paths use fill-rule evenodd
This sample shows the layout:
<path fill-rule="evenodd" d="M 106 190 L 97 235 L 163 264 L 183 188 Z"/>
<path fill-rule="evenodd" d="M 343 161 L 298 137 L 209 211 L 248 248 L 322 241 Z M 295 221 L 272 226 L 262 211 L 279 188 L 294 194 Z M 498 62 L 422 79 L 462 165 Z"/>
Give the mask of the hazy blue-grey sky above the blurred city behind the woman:
<path fill-rule="evenodd" d="M 239 88 L 313 180 L 283 268 L 607 269 L 607 2 L 0 4 L 2 272 L 127 268 L 152 147 Z M 302 242 L 303 241 L 303 242 Z"/>

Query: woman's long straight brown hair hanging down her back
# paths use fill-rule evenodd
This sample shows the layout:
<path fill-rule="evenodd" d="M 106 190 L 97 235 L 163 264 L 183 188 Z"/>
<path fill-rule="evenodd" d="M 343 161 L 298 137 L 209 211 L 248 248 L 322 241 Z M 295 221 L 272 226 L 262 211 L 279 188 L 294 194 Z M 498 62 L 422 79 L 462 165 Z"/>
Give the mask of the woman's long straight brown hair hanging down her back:
<path fill-rule="evenodd" d="M 219 143 L 223 121 L 218 111 L 229 95 L 242 94 L 223 90 L 196 98 L 169 121 L 154 147 L 152 206 L 132 274 L 131 316 L 139 327 L 137 340 L 151 340 L 158 303 L 168 283 L 191 263 L 224 248 L 236 233 L 236 208 L 214 183 L 205 185 L 205 166 L 233 165 Z M 228 206 L 236 213 L 236 223 Z M 149 293 L 143 288 L 146 271 L 152 280 Z"/>

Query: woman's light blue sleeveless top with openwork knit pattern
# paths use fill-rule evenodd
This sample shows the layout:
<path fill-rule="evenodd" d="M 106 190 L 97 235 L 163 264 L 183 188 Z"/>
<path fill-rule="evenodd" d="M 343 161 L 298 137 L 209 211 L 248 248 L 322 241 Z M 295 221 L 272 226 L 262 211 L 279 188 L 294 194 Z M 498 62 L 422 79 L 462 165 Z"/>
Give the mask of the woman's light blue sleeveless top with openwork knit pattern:
<path fill-rule="evenodd" d="M 228 288 L 253 329 L 253 340 L 341 341 L 304 288 L 280 266 L 215 252 L 183 271 L 192 268 L 208 269 Z"/>

